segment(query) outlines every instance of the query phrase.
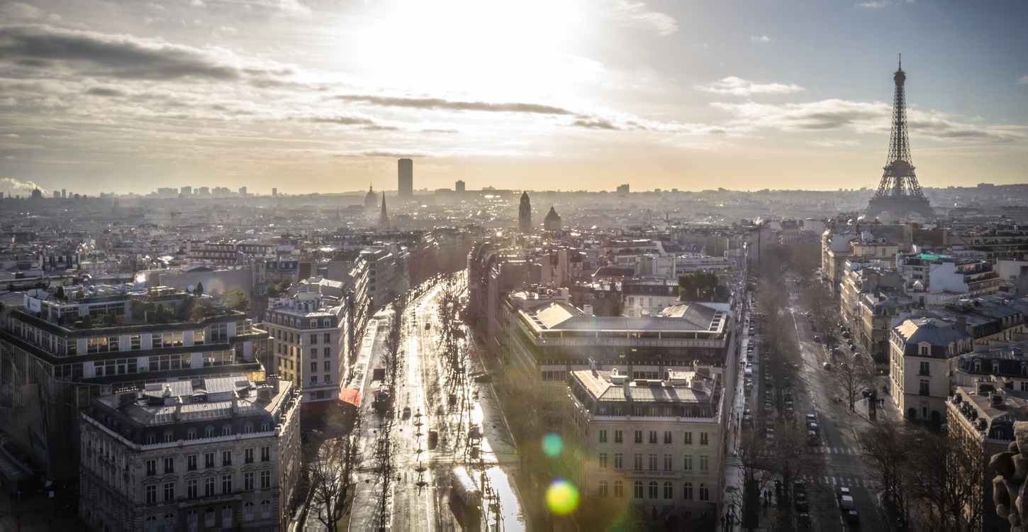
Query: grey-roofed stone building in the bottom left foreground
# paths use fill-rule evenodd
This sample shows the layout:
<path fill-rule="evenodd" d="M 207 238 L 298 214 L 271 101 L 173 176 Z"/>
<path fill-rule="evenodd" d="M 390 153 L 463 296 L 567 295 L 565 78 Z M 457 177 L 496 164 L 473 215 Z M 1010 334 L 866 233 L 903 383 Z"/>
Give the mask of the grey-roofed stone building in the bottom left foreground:
<path fill-rule="evenodd" d="M 291 383 L 169 380 L 81 415 L 79 516 L 95 530 L 285 530 L 300 470 Z"/>

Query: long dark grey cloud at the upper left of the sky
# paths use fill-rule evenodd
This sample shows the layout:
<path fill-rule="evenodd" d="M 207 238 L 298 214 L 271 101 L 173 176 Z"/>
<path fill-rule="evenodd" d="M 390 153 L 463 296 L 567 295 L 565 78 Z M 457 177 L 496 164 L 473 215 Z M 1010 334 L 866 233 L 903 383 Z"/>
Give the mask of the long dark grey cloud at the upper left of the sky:
<path fill-rule="evenodd" d="M 90 75 L 168 80 L 234 79 L 237 69 L 204 50 L 130 35 L 45 27 L 0 28 L 0 57 L 22 62 L 62 62 Z"/>

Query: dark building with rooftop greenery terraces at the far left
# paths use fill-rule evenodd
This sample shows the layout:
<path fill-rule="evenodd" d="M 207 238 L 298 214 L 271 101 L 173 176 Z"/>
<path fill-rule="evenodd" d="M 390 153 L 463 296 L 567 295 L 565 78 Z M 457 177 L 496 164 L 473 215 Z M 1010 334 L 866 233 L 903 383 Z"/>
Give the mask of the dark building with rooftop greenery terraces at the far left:
<path fill-rule="evenodd" d="M 173 288 L 25 292 L 0 329 L 0 432 L 47 478 L 70 481 L 77 410 L 91 398 L 169 378 L 257 376 L 266 344 L 243 313 Z"/>

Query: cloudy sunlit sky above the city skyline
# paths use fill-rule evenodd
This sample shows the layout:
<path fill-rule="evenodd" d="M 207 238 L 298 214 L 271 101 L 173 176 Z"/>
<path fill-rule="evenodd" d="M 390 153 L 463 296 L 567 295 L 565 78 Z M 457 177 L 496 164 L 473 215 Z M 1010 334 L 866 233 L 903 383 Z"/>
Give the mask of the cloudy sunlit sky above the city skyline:
<path fill-rule="evenodd" d="M 0 191 L 1028 182 L 1028 2 L 0 0 Z"/>

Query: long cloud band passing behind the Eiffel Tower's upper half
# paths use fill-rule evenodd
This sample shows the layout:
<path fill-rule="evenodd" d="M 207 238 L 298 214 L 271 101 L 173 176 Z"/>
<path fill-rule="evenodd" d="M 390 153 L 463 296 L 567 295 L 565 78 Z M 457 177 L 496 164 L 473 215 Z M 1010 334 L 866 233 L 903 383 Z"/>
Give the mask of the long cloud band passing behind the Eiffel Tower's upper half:
<path fill-rule="evenodd" d="M 882 102 L 865 103 L 846 100 L 822 100 L 800 104 L 732 104 L 715 102 L 712 107 L 735 115 L 730 123 L 745 129 L 771 129 L 793 132 L 849 130 L 856 133 L 882 134 L 889 131 L 892 107 Z M 1025 140 L 1019 132 L 1000 127 L 961 123 L 939 112 L 908 110 L 907 123 L 911 137 L 937 140 L 978 140 L 982 142 L 1015 142 Z"/>

